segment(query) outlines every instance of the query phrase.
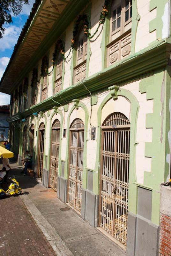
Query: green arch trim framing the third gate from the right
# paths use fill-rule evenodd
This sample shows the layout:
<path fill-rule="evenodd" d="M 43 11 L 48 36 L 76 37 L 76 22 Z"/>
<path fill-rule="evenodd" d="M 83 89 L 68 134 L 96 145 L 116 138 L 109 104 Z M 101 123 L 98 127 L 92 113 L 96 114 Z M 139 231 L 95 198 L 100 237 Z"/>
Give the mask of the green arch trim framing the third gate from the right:
<path fill-rule="evenodd" d="M 63 114 L 62 114 L 62 111 L 60 111 L 59 109 L 57 109 L 57 113 L 61 116 L 61 123 L 60 123 L 60 146 L 59 146 L 59 167 L 58 167 L 58 175 L 61 176 L 61 150 L 62 150 L 62 127 L 63 127 Z M 48 166 L 48 170 L 50 170 L 50 148 L 51 148 L 51 132 L 52 132 L 52 118 L 53 116 L 56 115 L 55 112 L 53 112 L 51 114 L 51 117 L 50 117 L 50 120 L 49 120 L 49 125 L 50 125 L 50 134 L 49 134 L 49 148 L 48 148 L 48 163 L 47 163 L 47 166 Z M 57 119 L 57 118 L 56 118 Z"/>

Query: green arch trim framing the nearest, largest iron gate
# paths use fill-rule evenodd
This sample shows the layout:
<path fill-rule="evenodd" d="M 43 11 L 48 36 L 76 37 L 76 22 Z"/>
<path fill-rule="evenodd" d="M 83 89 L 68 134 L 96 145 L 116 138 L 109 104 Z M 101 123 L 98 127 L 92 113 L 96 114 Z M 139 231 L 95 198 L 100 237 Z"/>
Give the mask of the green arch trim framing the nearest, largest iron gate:
<path fill-rule="evenodd" d="M 130 167 L 129 167 L 129 205 L 128 210 L 136 214 L 137 212 L 137 186 L 134 184 L 136 182 L 136 169 L 135 169 L 135 149 L 138 142 L 136 141 L 137 135 L 137 119 L 139 111 L 139 103 L 136 97 L 126 89 L 118 90 L 118 96 L 125 97 L 131 103 L 131 113 L 130 113 Z M 101 112 L 104 105 L 112 99 L 111 94 L 109 93 L 105 99 L 101 102 L 99 109 L 97 111 L 97 155 L 95 163 L 95 171 L 93 172 L 93 193 L 96 195 L 100 194 L 100 156 L 101 156 Z"/>

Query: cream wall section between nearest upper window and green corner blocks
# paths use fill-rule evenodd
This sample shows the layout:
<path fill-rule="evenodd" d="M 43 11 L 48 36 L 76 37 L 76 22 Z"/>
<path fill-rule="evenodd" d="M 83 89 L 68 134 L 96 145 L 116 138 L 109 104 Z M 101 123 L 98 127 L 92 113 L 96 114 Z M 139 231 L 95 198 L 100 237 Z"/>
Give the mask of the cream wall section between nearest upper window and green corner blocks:
<path fill-rule="evenodd" d="M 138 21 L 135 52 L 147 47 L 156 40 L 156 30 L 149 32 L 149 22 L 156 18 L 157 9 L 150 12 L 150 0 L 137 0 L 138 14 L 141 19 Z"/>

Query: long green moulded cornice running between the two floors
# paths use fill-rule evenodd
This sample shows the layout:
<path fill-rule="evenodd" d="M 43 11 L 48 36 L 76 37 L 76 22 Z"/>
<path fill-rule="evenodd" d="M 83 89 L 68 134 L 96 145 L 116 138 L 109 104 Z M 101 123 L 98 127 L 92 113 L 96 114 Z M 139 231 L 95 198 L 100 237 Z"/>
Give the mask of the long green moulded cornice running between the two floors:
<path fill-rule="evenodd" d="M 153 75 L 154 70 L 164 69 L 168 65 L 168 59 L 171 52 L 171 44 L 161 40 L 158 44 L 153 45 L 153 48 L 143 50 L 129 58 L 118 62 L 115 66 L 110 66 L 97 74 L 90 76 L 84 80 L 86 87 L 93 92 L 108 89 L 109 86 L 130 83 L 131 81 L 139 80 L 143 77 Z M 27 117 L 37 111 L 47 111 L 52 109 L 54 105 L 60 107 L 60 104 L 65 105 L 72 102 L 75 98 L 83 98 L 89 95 L 85 86 L 81 82 L 70 86 L 67 89 L 55 94 L 54 96 L 44 100 L 32 108 L 26 109 L 21 113 L 21 117 Z M 53 98 L 53 99 L 52 99 Z M 60 104 L 55 104 L 54 100 Z M 11 116 L 13 118 L 13 116 Z"/>

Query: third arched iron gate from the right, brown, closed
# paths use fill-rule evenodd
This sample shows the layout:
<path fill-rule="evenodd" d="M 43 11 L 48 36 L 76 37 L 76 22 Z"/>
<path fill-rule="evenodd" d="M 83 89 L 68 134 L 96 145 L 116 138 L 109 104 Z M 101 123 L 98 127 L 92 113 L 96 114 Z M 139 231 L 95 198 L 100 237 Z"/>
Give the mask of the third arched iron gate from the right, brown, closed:
<path fill-rule="evenodd" d="M 49 174 L 49 186 L 57 191 L 57 176 L 59 168 L 59 143 L 60 143 L 60 122 L 55 120 L 52 124 L 51 133 L 51 164 Z"/>

